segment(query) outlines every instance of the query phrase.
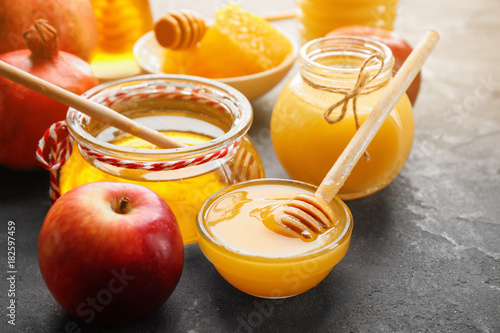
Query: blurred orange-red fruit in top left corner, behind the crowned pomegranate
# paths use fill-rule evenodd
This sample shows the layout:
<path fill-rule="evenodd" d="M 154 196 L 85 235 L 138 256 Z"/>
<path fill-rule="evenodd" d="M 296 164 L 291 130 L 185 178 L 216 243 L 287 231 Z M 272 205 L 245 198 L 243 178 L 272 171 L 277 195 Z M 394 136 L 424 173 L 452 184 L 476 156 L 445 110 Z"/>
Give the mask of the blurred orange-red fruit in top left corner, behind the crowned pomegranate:
<path fill-rule="evenodd" d="M 59 34 L 59 48 L 89 60 L 97 44 L 97 23 L 89 0 L 0 1 L 0 53 L 25 49 L 23 32 L 46 19 Z"/>

